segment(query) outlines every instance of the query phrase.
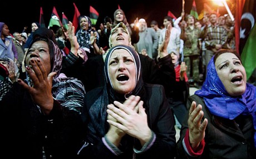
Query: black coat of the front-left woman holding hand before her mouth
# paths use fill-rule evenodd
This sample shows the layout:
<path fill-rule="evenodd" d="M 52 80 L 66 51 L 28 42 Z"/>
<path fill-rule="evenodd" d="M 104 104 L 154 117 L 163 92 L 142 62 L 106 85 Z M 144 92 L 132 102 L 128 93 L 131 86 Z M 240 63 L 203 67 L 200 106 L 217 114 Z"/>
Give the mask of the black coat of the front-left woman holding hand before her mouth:
<path fill-rule="evenodd" d="M 18 83 L 0 105 L 2 156 L 42 158 L 44 149 L 46 158 L 76 157 L 82 124 L 77 112 L 55 100 L 50 115 L 43 115 Z"/>

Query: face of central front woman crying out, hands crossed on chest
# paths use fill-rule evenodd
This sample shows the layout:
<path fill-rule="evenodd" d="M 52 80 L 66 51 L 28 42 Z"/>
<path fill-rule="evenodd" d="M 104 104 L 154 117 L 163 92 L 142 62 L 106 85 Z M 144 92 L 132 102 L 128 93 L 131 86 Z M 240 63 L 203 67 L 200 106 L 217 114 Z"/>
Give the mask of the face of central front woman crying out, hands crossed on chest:
<path fill-rule="evenodd" d="M 135 61 L 125 49 L 116 49 L 109 60 L 109 76 L 113 89 L 120 94 L 130 93 L 136 84 Z"/>

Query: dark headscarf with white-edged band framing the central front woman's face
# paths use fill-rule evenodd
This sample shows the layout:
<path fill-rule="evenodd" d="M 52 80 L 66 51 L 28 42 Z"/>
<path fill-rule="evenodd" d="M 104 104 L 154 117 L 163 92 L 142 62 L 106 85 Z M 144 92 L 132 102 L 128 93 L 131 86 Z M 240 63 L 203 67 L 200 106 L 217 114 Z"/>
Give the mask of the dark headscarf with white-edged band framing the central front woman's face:
<path fill-rule="evenodd" d="M 134 90 L 128 94 L 119 94 L 117 93 L 111 85 L 110 76 L 109 76 L 109 60 L 111 54 L 114 50 L 125 49 L 132 55 L 135 61 L 136 68 L 136 84 Z M 134 48 L 126 45 L 117 45 L 110 49 L 107 52 L 105 59 L 105 79 L 106 84 L 104 86 L 103 93 L 99 98 L 92 104 L 88 115 L 90 116 L 90 122 L 88 123 L 88 136 L 87 139 L 89 142 L 95 142 L 95 140 L 101 140 L 108 130 L 109 124 L 107 124 L 107 105 L 113 104 L 114 101 L 124 102 L 130 95 L 137 95 L 141 97 L 141 100 L 144 101 L 144 107 L 147 105 L 146 93 L 144 88 L 144 83 L 142 81 L 142 71 L 139 54 L 135 51 Z"/>

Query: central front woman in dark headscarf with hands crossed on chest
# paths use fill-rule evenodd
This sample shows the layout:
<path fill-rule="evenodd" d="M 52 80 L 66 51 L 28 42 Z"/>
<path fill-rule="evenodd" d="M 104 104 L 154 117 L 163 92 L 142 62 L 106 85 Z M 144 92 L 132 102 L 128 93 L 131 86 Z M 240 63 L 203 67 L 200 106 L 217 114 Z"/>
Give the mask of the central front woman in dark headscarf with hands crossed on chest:
<path fill-rule="evenodd" d="M 106 85 L 89 91 L 82 114 L 87 127 L 78 155 L 85 158 L 174 158 L 174 117 L 161 85 L 142 80 L 139 54 L 110 49 Z"/>

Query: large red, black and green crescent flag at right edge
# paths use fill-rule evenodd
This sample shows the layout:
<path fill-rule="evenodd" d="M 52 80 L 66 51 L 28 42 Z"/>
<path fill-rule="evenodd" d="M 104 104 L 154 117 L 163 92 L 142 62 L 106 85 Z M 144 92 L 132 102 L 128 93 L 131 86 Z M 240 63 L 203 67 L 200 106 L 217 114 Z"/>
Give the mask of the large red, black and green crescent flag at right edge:
<path fill-rule="evenodd" d="M 235 28 L 237 29 L 235 30 L 235 36 L 240 37 L 239 49 L 237 50 L 239 50 L 241 55 L 242 63 L 247 74 L 247 79 L 249 79 L 251 76 L 256 78 L 256 2 L 243 0 L 237 2 L 237 4 L 237 11 L 239 12 L 242 10 L 242 13 L 240 13 L 240 15 L 237 14 L 236 16 L 239 17 L 239 19 L 235 20 Z M 237 22 L 240 22 L 240 24 Z"/>

